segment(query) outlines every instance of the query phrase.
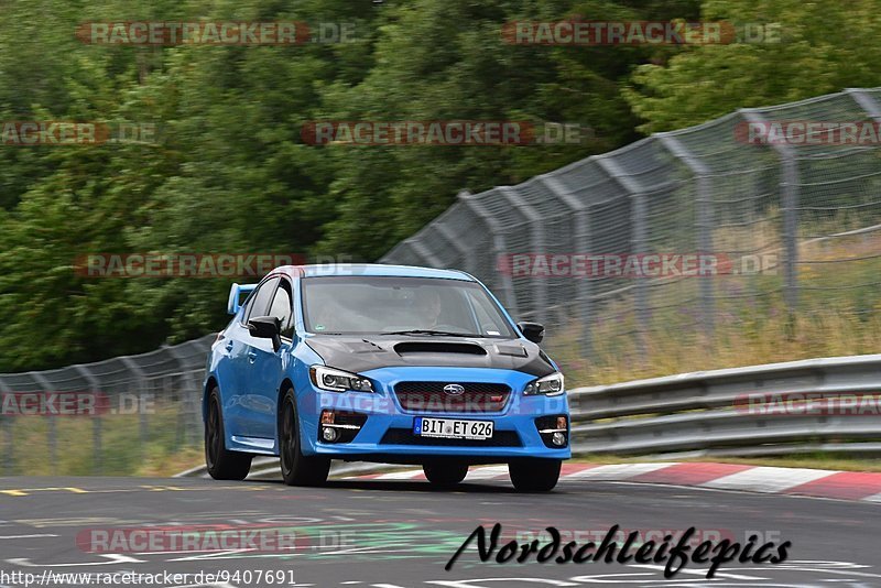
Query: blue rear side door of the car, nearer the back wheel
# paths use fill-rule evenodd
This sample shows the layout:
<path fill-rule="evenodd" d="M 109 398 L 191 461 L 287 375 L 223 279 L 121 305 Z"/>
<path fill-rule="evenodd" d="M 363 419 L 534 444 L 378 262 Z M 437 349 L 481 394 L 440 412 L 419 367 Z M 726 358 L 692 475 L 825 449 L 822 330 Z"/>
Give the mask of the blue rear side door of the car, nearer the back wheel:
<path fill-rule="evenodd" d="M 265 413 L 271 410 L 270 406 L 267 406 L 264 398 L 257 393 L 259 390 L 257 379 L 259 378 L 259 352 L 267 346 L 271 350 L 272 341 L 253 337 L 251 331 L 248 330 L 248 320 L 258 316 L 267 316 L 270 302 L 275 294 L 275 287 L 279 285 L 280 280 L 281 277 L 278 275 L 270 276 L 254 290 L 242 314 L 241 324 L 236 327 L 236 337 L 241 342 L 241 346 L 238 348 L 238 352 L 235 352 L 237 348 L 233 347 L 233 355 L 231 356 L 238 388 L 229 411 L 229 414 L 233 415 L 236 423 L 236 428 L 231 431 L 233 435 L 261 437 L 259 424 L 265 421 Z M 243 440 L 243 443 L 248 442 Z"/>

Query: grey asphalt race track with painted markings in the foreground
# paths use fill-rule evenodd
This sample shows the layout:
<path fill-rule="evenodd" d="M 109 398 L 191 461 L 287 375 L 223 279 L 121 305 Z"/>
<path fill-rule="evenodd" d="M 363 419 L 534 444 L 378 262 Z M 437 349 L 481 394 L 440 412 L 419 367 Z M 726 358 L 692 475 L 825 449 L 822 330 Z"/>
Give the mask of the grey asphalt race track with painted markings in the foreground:
<path fill-rule="evenodd" d="M 711 580 L 706 566 L 693 563 L 665 580 L 660 565 L 481 563 L 476 551 L 444 569 L 478 524 L 496 522 L 505 538 L 533 538 L 547 525 L 581 542 L 614 524 L 645 537 L 695 526 L 704 536 L 738 541 L 758 531 L 792 547 L 784 564 L 729 563 Z M 192 576 L 151 585 L 231 588 L 278 586 L 265 576 L 258 582 L 255 574 L 283 570 L 281 585 L 318 587 L 881 586 L 879 523 L 879 507 L 860 502 L 585 480 L 561 482 L 548 494 L 520 494 L 507 480 L 450 492 L 376 480 L 314 489 L 198 478 L 0 478 L 0 578 L 19 571 L 39 579 L 46 570 L 90 574 L 95 581 L 112 571 L 226 571 L 229 581 L 197 584 Z M 86 530 L 171 525 L 293 526 L 301 540 L 289 553 L 97 554 L 77 545 Z M 23 586 L 21 578 L 7 576 L 0 585 Z"/>

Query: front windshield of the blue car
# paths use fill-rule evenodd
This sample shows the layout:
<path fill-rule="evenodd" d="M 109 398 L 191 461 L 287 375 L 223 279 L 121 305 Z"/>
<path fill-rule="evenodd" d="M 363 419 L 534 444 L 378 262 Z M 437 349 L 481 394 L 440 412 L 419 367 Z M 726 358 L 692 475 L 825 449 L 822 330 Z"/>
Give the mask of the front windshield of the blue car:
<path fill-rule="evenodd" d="M 309 333 L 515 337 L 475 282 L 359 275 L 305 277 L 302 284 Z"/>

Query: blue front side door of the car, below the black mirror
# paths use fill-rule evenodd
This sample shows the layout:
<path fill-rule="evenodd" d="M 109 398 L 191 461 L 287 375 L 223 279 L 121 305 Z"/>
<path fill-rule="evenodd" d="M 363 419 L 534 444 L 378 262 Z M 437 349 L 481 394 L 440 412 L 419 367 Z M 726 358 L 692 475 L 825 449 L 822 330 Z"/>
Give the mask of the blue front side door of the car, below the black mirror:
<path fill-rule="evenodd" d="M 282 277 L 272 296 L 267 316 L 274 316 L 281 325 L 282 345 L 273 349 L 270 339 L 254 339 L 252 352 L 255 355 L 252 364 L 251 388 L 252 402 L 255 410 L 253 416 L 254 436 L 275 439 L 276 404 L 279 386 L 284 378 L 284 358 L 290 355 L 293 342 L 293 290 L 291 282 Z"/>

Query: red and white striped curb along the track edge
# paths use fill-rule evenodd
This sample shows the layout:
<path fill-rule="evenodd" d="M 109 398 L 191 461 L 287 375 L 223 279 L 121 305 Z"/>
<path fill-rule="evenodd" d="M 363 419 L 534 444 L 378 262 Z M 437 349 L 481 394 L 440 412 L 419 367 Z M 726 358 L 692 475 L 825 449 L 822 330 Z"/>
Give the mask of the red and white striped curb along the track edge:
<path fill-rule="evenodd" d="M 507 466 L 471 468 L 466 482 L 508 477 Z M 347 480 L 418 481 L 421 469 L 354 476 Z M 881 472 L 838 471 L 806 468 L 775 468 L 711 462 L 656 462 L 599 466 L 564 464 L 561 482 L 641 482 L 739 490 L 772 494 L 793 494 L 881 503 Z"/>

